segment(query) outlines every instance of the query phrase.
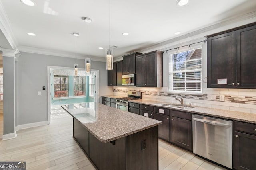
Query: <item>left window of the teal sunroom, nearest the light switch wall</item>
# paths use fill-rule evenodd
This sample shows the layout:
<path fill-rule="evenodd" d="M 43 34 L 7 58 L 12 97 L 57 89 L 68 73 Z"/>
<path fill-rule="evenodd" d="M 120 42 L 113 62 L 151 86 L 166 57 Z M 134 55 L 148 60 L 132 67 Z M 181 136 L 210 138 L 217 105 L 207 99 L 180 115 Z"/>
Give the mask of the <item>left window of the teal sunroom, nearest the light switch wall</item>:
<path fill-rule="evenodd" d="M 54 76 L 54 96 L 67 97 L 68 96 L 68 76 Z"/>

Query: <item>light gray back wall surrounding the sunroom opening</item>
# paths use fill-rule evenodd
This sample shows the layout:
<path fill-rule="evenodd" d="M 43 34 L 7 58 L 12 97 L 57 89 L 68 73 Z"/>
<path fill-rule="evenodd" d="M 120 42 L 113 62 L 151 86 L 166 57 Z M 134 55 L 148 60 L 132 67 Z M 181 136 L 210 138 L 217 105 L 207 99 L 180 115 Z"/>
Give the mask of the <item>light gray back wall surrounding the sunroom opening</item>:
<path fill-rule="evenodd" d="M 16 63 L 17 111 L 16 126 L 47 121 L 47 66 L 74 67 L 75 59 L 21 52 Z M 79 68 L 85 67 L 85 61 L 77 59 Z M 99 97 L 112 94 L 107 86 L 105 63 L 92 61 L 92 69 L 99 70 Z M 46 86 L 46 90 L 42 87 Z M 42 95 L 38 95 L 42 91 Z M 101 98 L 100 98 L 101 103 Z"/>

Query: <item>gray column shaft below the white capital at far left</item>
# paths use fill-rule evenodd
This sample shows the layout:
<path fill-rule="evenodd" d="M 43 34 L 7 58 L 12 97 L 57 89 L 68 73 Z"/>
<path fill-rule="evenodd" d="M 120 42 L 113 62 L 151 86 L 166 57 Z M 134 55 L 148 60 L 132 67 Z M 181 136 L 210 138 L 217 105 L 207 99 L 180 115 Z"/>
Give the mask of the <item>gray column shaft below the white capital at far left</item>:
<path fill-rule="evenodd" d="M 4 134 L 14 133 L 14 57 L 3 56 L 4 70 Z"/>

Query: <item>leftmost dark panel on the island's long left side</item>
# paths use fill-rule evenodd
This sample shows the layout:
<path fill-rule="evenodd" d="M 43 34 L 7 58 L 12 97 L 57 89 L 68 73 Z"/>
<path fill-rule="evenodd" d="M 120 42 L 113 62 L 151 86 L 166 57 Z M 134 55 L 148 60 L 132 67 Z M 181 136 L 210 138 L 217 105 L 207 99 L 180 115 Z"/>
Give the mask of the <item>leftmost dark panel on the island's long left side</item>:
<path fill-rule="evenodd" d="M 89 156 L 89 131 L 75 118 L 73 118 L 73 137 Z"/>

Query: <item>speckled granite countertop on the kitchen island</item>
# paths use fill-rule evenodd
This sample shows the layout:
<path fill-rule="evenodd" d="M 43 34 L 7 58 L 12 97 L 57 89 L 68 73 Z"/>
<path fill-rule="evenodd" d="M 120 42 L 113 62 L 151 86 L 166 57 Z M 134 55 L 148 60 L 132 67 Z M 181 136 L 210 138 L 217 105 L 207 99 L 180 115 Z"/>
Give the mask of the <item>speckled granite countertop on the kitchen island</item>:
<path fill-rule="evenodd" d="M 62 108 L 101 142 L 110 142 L 161 124 L 155 119 L 94 102 L 64 105 Z"/>

